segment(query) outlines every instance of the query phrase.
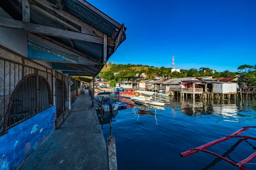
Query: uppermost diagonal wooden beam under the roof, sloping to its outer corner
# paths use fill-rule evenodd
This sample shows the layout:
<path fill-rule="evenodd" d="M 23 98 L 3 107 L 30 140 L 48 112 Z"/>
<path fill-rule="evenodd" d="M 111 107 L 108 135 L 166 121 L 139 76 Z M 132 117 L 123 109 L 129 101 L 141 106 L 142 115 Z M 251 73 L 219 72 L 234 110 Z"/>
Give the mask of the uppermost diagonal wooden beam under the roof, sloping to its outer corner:
<path fill-rule="evenodd" d="M 65 20 L 69 21 L 70 23 L 73 23 L 76 26 L 81 27 L 81 30 L 82 30 L 83 34 L 89 34 L 89 35 L 98 36 L 98 37 L 103 38 L 104 34 L 101 31 L 97 30 L 96 28 L 93 28 L 92 26 L 90 26 L 87 23 L 84 23 L 83 21 L 74 17 L 73 15 L 68 13 L 67 11 L 59 10 L 57 8 L 54 8 L 53 6 L 56 6 L 55 4 L 50 3 L 47 0 L 34 0 L 34 1 L 36 3 L 38 3 L 39 5 L 44 6 L 45 8 L 49 8 L 52 11 L 56 12 L 56 14 L 63 17 Z M 110 42 L 109 45 L 114 44 L 113 40 L 110 37 L 108 37 L 108 41 Z"/>

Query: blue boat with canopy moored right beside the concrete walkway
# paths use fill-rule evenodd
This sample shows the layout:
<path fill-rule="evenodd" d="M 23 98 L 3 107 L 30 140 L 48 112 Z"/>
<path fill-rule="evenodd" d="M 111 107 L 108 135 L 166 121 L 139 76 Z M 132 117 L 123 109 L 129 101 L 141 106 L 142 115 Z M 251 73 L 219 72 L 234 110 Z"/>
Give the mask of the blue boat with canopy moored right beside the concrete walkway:
<path fill-rule="evenodd" d="M 116 111 L 119 108 L 119 104 L 115 101 L 112 101 L 111 92 L 101 92 L 96 97 L 96 102 L 100 107 L 103 107 L 103 111 Z"/>

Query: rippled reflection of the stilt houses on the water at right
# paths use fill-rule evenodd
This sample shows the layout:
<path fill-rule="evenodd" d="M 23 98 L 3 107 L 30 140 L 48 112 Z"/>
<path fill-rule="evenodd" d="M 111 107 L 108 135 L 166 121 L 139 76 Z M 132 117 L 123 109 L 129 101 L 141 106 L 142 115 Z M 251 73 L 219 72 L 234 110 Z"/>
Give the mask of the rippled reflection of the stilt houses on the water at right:
<path fill-rule="evenodd" d="M 256 110 L 256 102 L 252 100 L 208 100 L 208 99 L 186 99 L 177 100 L 170 99 L 166 103 L 165 108 L 173 114 L 176 111 L 181 111 L 181 114 L 188 116 L 216 115 L 223 117 L 223 121 L 239 122 L 243 117 L 255 119 L 254 110 Z M 245 110 L 248 108 L 248 110 Z M 250 111 L 252 113 L 250 113 Z"/>

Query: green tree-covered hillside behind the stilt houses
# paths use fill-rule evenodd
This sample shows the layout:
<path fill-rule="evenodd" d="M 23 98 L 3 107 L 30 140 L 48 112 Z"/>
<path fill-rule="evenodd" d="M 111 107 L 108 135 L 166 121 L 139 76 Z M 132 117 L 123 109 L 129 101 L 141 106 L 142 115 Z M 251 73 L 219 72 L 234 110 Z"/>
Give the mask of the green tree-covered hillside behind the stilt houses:
<path fill-rule="evenodd" d="M 235 77 L 239 76 L 243 78 L 248 86 L 256 86 L 256 65 L 240 65 L 237 72 L 231 71 L 215 71 L 210 68 L 190 68 L 188 70 L 180 69 L 180 72 L 172 72 L 172 68 L 165 67 L 153 67 L 148 65 L 134 65 L 134 64 L 115 64 L 111 63 L 109 65 L 111 68 L 109 71 L 101 72 L 98 77 L 104 78 L 105 81 L 111 81 L 111 84 L 119 82 L 120 77 L 131 77 L 136 74 L 146 73 L 146 79 L 154 79 L 154 75 L 159 77 L 166 77 L 170 79 L 174 78 L 184 78 L 184 77 L 207 77 L 213 76 L 215 78 L 219 77 Z M 116 74 L 114 76 L 114 73 Z M 122 79 L 121 79 L 122 80 Z"/>

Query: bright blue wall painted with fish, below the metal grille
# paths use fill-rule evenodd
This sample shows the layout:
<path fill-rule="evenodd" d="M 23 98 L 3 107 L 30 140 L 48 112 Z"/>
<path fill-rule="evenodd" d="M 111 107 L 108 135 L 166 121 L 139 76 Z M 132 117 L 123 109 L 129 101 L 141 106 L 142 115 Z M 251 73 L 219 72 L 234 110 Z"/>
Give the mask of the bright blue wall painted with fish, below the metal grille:
<path fill-rule="evenodd" d="M 15 170 L 54 130 L 55 106 L 9 129 L 0 137 L 0 170 Z"/>

